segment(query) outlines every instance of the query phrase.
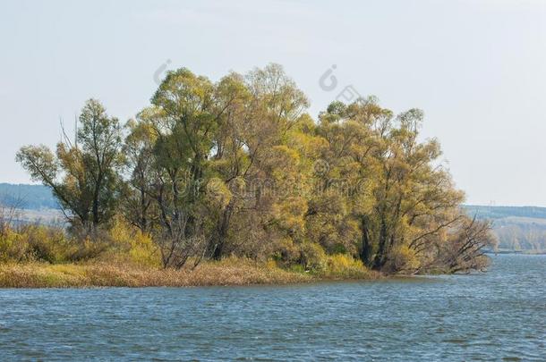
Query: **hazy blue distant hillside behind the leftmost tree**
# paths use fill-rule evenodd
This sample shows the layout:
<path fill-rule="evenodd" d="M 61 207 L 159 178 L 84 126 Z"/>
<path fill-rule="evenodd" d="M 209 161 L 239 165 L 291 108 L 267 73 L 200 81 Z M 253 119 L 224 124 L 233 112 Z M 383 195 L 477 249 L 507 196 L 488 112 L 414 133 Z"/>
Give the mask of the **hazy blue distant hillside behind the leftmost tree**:
<path fill-rule="evenodd" d="M 42 185 L 0 183 L 0 203 L 29 210 L 58 208 L 51 189 Z"/>

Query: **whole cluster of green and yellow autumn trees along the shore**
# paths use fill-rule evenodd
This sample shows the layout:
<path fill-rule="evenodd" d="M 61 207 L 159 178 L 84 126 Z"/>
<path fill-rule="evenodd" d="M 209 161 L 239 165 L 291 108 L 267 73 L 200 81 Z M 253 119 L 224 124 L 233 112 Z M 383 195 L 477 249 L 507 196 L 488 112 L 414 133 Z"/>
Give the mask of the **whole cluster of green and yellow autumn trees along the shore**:
<path fill-rule="evenodd" d="M 421 111 L 369 97 L 315 122 L 307 106 L 276 64 L 216 83 L 179 69 L 135 120 L 90 100 L 73 141 L 21 147 L 17 160 L 72 230 L 123 215 L 166 267 L 227 255 L 305 265 L 320 249 L 388 273 L 482 268 L 490 225 L 460 208 L 439 143 L 418 139 Z"/>

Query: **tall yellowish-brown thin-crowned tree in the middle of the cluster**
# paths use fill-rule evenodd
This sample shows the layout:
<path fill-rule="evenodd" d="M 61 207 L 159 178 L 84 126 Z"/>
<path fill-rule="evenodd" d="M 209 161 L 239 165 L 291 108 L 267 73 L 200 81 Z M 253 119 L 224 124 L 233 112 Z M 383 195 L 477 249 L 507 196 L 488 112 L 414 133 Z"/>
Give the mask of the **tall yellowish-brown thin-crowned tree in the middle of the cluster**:
<path fill-rule="evenodd" d="M 218 119 L 211 165 L 229 191 L 229 202 L 210 213 L 215 220 L 210 255 L 219 259 L 239 251 L 256 257 L 263 255 L 264 249 L 270 250 L 267 239 L 278 232 L 272 225 L 282 208 L 274 189 L 283 188 L 273 169 L 277 168 L 277 174 L 287 173 L 288 169 L 281 170 L 281 164 L 272 160 L 287 149 L 288 134 L 308 101 L 277 64 L 255 69 L 246 76 L 228 75 L 217 85 L 217 99 L 224 112 Z M 293 172 L 297 175 L 297 169 Z M 249 242 L 240 234 L 243 231 L 260 242 Z"/>

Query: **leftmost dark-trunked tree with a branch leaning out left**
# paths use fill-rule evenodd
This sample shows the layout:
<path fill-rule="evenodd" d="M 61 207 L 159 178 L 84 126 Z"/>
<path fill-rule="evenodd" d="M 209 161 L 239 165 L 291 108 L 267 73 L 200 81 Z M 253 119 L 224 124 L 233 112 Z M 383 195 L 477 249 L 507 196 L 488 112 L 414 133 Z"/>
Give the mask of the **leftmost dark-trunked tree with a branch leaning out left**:
<path fill-rule="evenodd" d="M 16 160 L 53 189 L 74 226 L 98 226 L 115 215 L 119 198 L 121 127 L 90 99 L 81 110 L 74 142 L 59 142 L 55 155 L 45 146 L 21 147 Z"/>

